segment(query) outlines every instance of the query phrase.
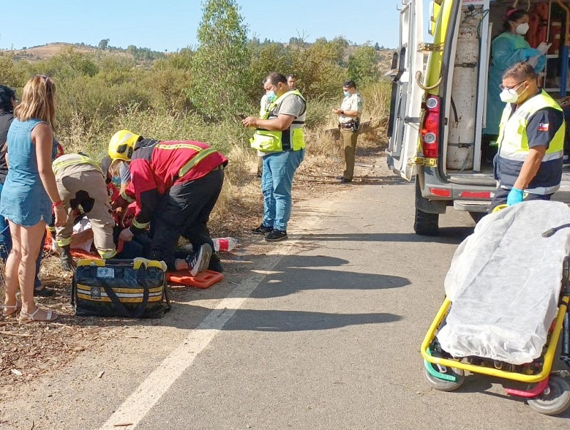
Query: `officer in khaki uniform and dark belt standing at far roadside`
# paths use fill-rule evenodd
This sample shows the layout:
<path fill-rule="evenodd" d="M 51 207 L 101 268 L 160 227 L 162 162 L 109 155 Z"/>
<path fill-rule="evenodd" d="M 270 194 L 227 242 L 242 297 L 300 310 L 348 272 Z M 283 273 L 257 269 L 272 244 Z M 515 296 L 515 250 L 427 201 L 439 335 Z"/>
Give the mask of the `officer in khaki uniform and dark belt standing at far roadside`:
<path fill-rule="evenodd" d="M 356 140 L 360 127 L 363 99 L 356 91 L 356 83 L 352 80 L 343 83 L 344 98 L 341 108 L 333 108 L 338 115 L 338 128 L 341 130 L 341 145 L 343 148 L 343 175 L 338 177 L 341 183 L 351 183 L 354 175 L 354 156 L 356 153 Z"/>

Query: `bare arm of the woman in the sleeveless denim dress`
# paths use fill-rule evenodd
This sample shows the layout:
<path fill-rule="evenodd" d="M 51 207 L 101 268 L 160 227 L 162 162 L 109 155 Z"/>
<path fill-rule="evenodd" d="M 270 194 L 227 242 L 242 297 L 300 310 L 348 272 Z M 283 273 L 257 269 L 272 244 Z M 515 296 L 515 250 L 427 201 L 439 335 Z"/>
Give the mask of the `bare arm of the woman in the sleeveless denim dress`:
<path fill-rule="evenodd" d="M 67 220 L 67 213 L 61 204 L 56 176 L 51 168 L 51 151 L 53 149 L 53 134 L 46 123 L 39 123 L 31 132 L 31 140 L 36 145 L 36 159 L 38 160 L 38 173 L 43 188 L 48 193 L 51 203 L 58 203 L 53 209 L 56 214 L 56 227 L 61 227 Z"/>

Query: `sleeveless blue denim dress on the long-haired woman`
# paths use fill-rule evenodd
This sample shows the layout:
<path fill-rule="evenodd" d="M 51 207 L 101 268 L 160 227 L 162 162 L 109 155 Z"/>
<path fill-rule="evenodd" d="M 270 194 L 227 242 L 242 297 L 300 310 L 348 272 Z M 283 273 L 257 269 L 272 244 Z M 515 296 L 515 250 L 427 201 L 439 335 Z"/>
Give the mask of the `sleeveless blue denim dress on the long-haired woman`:
<path fill-rule="evenodd" d="M 0 215 L 18 225 L 31 227 L 51 220 L 51 200 L 38 173 L 36 145 L 31 131 L 42 121 L 14 118 L 8 130 L 9 170 L 0 196 Z"/>

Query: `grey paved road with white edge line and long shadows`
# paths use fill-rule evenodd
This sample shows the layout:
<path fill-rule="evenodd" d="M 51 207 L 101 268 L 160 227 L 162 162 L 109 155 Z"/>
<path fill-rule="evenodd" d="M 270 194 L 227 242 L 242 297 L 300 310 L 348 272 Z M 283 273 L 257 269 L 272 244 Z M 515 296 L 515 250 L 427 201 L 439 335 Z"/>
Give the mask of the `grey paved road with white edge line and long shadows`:
<path fill-rule="evenodd" d="M 424 381 L 420 342 L 473 223 L 450 211 L 439 238 L 415 235 L 413 185 L 383 175 L 296 205 L 291 240 L 242 251 L 233 283 L 39 383 L 6 428 L 566 428 L 570 415 L 541 416 L 495 379 Z"/>

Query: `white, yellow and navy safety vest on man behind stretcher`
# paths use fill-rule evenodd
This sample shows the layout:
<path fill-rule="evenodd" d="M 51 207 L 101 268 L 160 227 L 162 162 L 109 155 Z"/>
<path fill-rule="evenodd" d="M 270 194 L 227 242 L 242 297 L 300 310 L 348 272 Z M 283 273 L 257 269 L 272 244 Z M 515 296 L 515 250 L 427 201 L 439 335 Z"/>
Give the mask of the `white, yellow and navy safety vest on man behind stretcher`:
<path fill-rule="evenodd" d="M 510 103 L 504 108 L 499 126 L 499 153 L 496 160 L 496 176 L 501 186 L 512 188 L 519 177 L 524 160 L 529 155 L 529 118 L 544 108 L 562 113 L 558 103 L 544 90 L 524 101 L 514 113 Z M 528 193 L 544 195 L 558 190 L 562 174 L 565 130 L 563 122 L 546 149 L 537 175 L 525 190 Z"/>

